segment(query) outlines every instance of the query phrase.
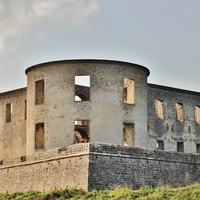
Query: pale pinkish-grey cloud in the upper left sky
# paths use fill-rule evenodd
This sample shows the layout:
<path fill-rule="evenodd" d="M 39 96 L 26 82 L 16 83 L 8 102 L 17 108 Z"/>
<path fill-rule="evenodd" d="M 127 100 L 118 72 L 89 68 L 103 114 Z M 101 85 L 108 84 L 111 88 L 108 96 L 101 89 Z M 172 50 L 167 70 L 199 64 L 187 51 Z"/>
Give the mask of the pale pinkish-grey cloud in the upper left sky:
<path fill-rule="evenodd" d="M 45 36 L 45 31 L 59 21 L 87 27 L 98 10 L 96 0 L 0 0 L 1 66 L 24 35 L 38 30 Z"/>

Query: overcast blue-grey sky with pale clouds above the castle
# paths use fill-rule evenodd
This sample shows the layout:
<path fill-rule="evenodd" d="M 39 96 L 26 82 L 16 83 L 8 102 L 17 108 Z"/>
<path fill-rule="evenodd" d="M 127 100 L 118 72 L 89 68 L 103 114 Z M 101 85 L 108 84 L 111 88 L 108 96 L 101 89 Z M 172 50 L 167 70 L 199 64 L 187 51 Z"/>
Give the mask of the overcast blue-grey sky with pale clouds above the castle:
<path fill-rule="evenodd" d="M 148 82 L 200 91 L 200 0 L 0 0 L 0 92 L 65 59 L 141 64 Z"/>

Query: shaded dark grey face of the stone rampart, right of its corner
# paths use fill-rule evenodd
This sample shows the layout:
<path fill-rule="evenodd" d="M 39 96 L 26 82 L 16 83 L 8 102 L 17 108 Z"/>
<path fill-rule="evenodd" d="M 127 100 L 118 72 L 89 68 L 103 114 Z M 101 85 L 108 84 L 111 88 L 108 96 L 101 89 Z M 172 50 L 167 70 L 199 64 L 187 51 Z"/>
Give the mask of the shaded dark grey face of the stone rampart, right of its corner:
<path fill-rule="evenodd" d="M 91 144 L 89 190 L 128 185 L 181 186 L 200 181 L 200 156 L 108 144 Z"/>

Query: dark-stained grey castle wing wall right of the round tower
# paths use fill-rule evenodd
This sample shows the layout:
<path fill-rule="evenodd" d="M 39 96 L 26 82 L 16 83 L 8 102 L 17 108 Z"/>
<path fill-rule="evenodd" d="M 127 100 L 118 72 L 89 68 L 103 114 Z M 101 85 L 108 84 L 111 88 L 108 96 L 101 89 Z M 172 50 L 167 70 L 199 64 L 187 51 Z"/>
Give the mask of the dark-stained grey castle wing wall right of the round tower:
<path fill-rule="evenodd" d="M 159 109 L 163 110 L 163 117 L 156 114 L 155 100 L 162 103 Z M 177 151 L 177 143 L 182 143 L 184 152 L 196 153 L 200 124 L 195 107 L 199 105 L 200 93 L 149 84 L 149 148 L 155 149 L 159 140 L 164 142 L 165 151 Z"/>

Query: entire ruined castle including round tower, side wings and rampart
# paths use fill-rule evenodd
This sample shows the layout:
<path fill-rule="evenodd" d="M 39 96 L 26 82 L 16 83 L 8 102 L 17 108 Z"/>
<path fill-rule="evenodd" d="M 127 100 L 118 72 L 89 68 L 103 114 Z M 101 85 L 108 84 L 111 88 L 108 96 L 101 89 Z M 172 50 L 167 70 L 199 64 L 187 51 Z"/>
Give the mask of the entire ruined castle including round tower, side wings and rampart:
<path fill-rule="evenodd" d="M 118 61 L 26 75 L 27 88 L 0 94 L 0 191 L 200 180 L 200 93 L 148 84 L 147 68 Z"/>

